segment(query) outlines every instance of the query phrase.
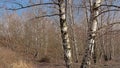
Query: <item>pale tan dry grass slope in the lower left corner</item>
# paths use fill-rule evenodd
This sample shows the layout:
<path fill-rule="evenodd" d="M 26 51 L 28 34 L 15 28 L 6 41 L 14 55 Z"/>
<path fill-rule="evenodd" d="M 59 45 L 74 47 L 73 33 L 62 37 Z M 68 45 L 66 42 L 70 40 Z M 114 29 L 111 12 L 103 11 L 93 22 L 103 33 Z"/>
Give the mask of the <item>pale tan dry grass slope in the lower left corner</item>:
<path fill-rule="evenodd" d="M 12 50 L 0 47 L 0 68 L 35 68 Z"/>

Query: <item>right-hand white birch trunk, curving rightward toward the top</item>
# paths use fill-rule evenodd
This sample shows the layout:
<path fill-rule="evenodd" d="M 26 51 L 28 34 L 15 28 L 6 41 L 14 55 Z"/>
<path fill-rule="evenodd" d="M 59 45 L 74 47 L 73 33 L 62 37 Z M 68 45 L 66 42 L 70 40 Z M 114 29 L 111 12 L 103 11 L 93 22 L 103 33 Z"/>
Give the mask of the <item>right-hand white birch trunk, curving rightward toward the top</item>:
<path fill-rule="evenodd" d="M 97 30 L 97 18 L 95 18 L 99 14 L 99 6 L 101 4 L 101 0 L 95 0 L 92 3 L 92 8 L 91 8 L 91 19 L 89 21 L 88 27 L 88 47 L 86 49 L 81 68 L 89 68 L 91 65 L 91 59 L 94 54 L 94 47 L 95 47 L 95 37 L 96 37 L 96 30 Z"/>

